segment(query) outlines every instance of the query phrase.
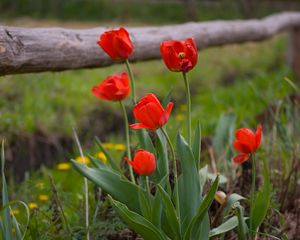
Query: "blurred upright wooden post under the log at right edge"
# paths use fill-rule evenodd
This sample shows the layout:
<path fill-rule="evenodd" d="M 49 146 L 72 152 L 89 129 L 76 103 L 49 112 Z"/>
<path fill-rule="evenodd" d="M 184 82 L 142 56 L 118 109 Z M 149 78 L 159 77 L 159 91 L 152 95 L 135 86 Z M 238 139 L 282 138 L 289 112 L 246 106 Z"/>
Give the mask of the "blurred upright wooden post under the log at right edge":
<path fill-rule="evenodd" d="M 300 80 L 300 27 L 291 29 L 288 45 L 288 65 Z"/>

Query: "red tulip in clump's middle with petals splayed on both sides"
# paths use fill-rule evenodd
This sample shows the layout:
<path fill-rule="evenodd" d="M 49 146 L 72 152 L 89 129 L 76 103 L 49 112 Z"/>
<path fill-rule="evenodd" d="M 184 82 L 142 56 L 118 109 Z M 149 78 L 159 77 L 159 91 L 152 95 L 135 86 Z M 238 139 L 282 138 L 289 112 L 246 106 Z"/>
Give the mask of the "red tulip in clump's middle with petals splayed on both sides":
<path fill-rule="evenodd" d="M 157 97 L 152 93 L 148 93 L 133 109 L 133 115 L 140 123 L 131 124 L 130 127 L 133 129 L 147 128 L 150 130 L 161 128 L 167 123 L 173 105 L 170 102 L 167 108 L 163 109 Z"/>

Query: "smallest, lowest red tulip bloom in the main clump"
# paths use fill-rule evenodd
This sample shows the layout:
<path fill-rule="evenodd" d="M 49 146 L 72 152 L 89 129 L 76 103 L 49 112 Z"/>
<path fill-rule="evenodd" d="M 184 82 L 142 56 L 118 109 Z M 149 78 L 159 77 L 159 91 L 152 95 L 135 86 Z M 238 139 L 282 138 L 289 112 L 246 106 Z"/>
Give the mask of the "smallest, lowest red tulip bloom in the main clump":
<path fill-rule="evenodd" d="M 133 170 L 143 176 L 150 176 L 155 171 L 155 157 L 152 153 L 140 149 L 136 152 L 133 161 L 125 158 Z"/>

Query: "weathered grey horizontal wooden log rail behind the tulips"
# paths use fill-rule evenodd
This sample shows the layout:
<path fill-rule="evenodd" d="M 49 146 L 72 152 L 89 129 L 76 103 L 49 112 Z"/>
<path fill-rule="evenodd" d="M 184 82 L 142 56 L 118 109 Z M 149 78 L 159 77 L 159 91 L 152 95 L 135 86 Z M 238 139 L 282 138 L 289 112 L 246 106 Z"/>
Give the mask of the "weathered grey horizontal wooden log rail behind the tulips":
<path fill-rule="evenodd" d="M 132 61 L 159 59 L 168 39 L 194 37 L 198 48 L 261 41 L 300 26 L 300 12 L 262 20 L 211 21 L 161 27 L 128 28 L 134 43 Z M 113 64 L 96 44 L 106 28 L 16 28 L 0 26 L 0 75 L 104 67 Z"/>

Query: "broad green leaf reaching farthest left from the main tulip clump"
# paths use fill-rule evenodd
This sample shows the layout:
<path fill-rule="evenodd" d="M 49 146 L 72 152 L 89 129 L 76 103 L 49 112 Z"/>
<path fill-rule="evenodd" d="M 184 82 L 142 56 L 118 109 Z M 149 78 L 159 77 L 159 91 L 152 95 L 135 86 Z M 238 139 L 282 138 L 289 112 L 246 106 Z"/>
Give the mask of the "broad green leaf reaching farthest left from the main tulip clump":
<path fill-rule="evenodd" d="M 114 199 L 126 204 L 129 209 L 140 213 L 138 192 L 142 189 L 139 186 L 129 182 L 107 167 L 94 169 L 74 160 L 71 160 L 71 162 L 79 173 L 102 188 Z"/>

